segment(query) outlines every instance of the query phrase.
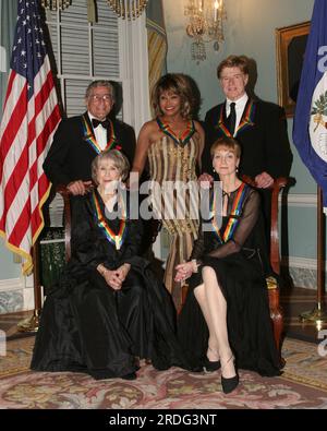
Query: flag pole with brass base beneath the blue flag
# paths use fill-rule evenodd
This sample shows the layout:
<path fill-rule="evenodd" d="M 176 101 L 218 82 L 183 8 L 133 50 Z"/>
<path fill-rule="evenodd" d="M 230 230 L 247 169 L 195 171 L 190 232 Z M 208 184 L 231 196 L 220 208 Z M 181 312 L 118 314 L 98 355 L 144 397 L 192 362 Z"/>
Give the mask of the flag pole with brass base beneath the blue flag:
<path fill-rule="evenodd" d="M 302 322 L 315 322 L 319 330 L 322 324 L 327 322 L 325 311 L 325 234 L 326 222 L 323 213 L 323 191 L 317 188 L 317 299 L 316 306 L 312 311 L 305 311 L 300 314 Z"/>

